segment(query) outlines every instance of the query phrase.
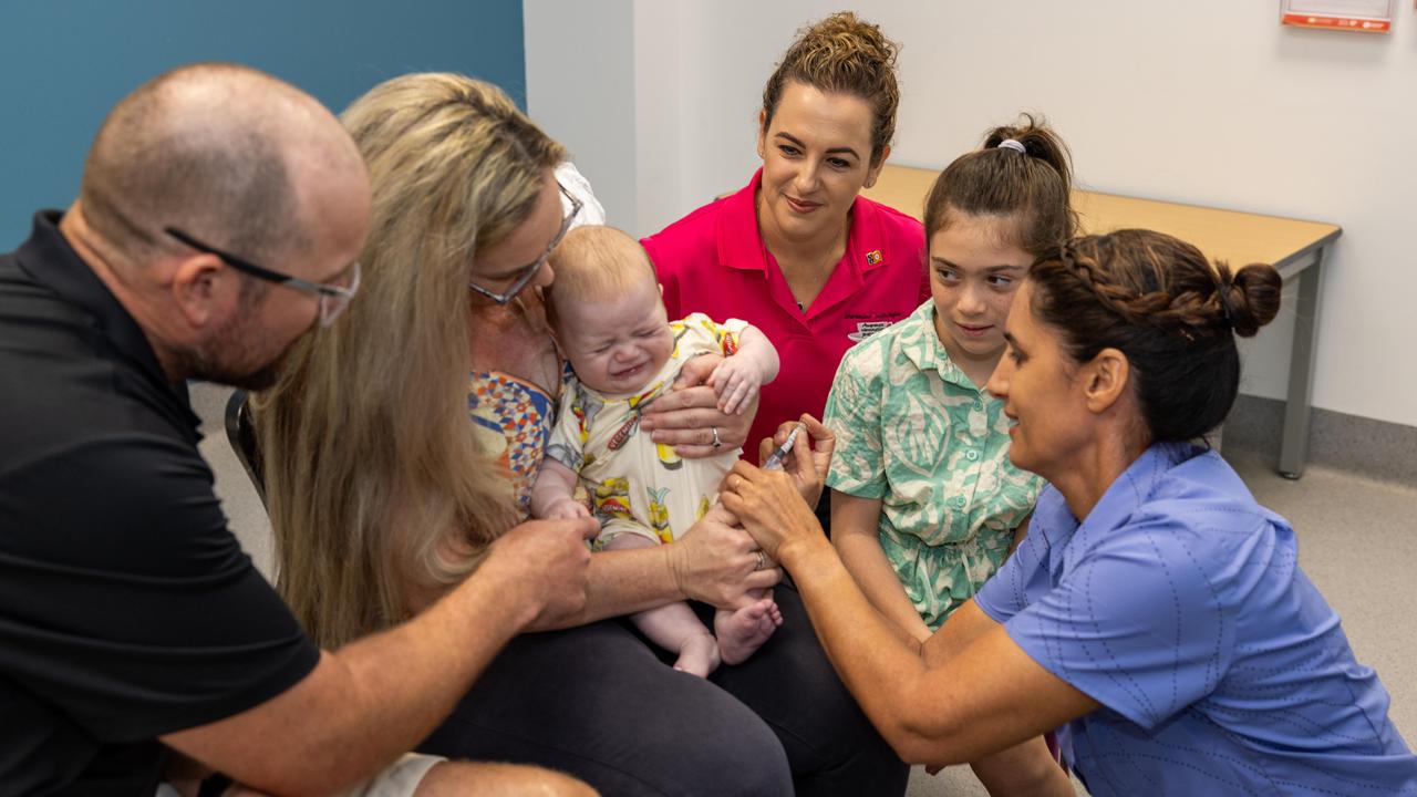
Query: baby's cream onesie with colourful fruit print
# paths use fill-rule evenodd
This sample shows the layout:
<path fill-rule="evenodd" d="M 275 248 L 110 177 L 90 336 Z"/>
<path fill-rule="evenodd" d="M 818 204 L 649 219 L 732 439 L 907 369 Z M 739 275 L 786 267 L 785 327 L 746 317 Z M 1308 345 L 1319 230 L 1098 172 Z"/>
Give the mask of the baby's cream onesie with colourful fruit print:
<path fill-rule="evenodd" d="M 561 410 L 546 455 L 581 475 L 591 512 L 601 522 L 595 547 L 622 533 L 673 542 L 708 511 L 740 448 L 682 459 L 639 431 L 639 416 L 670 390 L 679 369 L 699 355 L 733 356 L 747 322 L 714 323 L 703 313 L 670 322 L 674 349 L 649 383 L 632 396 L 606 396 L 565 367 Z"/>

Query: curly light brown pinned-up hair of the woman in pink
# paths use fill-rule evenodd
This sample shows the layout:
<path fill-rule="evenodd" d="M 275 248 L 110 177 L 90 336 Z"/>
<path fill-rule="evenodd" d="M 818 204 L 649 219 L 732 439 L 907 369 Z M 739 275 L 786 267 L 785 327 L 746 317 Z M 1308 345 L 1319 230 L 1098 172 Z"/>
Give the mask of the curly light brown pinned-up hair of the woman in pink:
<path fill-rule="evenodd" d="M 880 26 L 850 11 L 837 11 L 799 30 L 762 89 L 762 129 L 772 125 L 772 115 L 789 81 L 823 94 L 850 94 L 871 106 L 871 166 L 879 165 L 896 136 L 898 51 L 900 45 L 886 38 Z"/>

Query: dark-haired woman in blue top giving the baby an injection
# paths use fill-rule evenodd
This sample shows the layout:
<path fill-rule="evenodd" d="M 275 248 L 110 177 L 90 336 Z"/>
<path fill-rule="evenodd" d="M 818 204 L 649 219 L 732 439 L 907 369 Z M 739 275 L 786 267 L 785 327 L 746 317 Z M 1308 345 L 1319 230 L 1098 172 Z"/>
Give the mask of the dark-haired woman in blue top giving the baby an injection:
<path fill-rule="evenodd" d="M 1010 458 L 1050 486 L 1015 554 L 921 647 L 808 509 L 825 428 L 785 472 L 728 475 L 724 505 L 792 574 L 901 757 L 969 762 L 1058 729 L 1097 797 L 1417 796 L 1387 691 L 1299 569 L 1294 529 L 1195 442 L 1230 410 L 1236 336 L 1274 319 L 1280 288 L 1268 265 L 1231 274 L 1142 230 L 1034 262 L 989 390 Z"/>

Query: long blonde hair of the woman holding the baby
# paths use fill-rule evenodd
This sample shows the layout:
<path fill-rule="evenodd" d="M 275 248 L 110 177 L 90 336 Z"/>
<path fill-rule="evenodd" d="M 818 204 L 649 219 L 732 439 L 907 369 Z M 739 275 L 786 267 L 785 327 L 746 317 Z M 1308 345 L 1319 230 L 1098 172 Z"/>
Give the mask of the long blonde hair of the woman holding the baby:
<path fill-rule="evenodd" d="M 410 584 L 458 581 L 514 523 L 468 417 L 468 278 L 565 159 L 462 75 L 394 78 L 341 121 L 374 191 L 360 292 L 254 401 L 276 586 L 324 647 L 401 621 Z"/>

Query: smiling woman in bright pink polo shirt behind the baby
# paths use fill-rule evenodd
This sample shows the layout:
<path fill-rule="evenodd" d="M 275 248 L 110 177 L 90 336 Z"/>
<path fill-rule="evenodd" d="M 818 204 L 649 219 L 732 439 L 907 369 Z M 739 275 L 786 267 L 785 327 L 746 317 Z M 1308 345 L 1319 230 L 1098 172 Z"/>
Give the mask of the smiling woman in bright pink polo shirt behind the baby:
<path fill-rule="evenodd" d="M 849 11 L 805 28 L 762 91 L 762 169 L 642 241 L 670 318 L 740 318 L 778 347 L 782 370 L 762 389 L 750 454 L 779 423 L 820 417 L 842 355 L 930 298 L 920 221 L 857 196 L 890 155 L 896 50 Z M 646 418 L 659 440 L 670 418 Z M 711 445 L 716 431 L 693 442 Z"/>

